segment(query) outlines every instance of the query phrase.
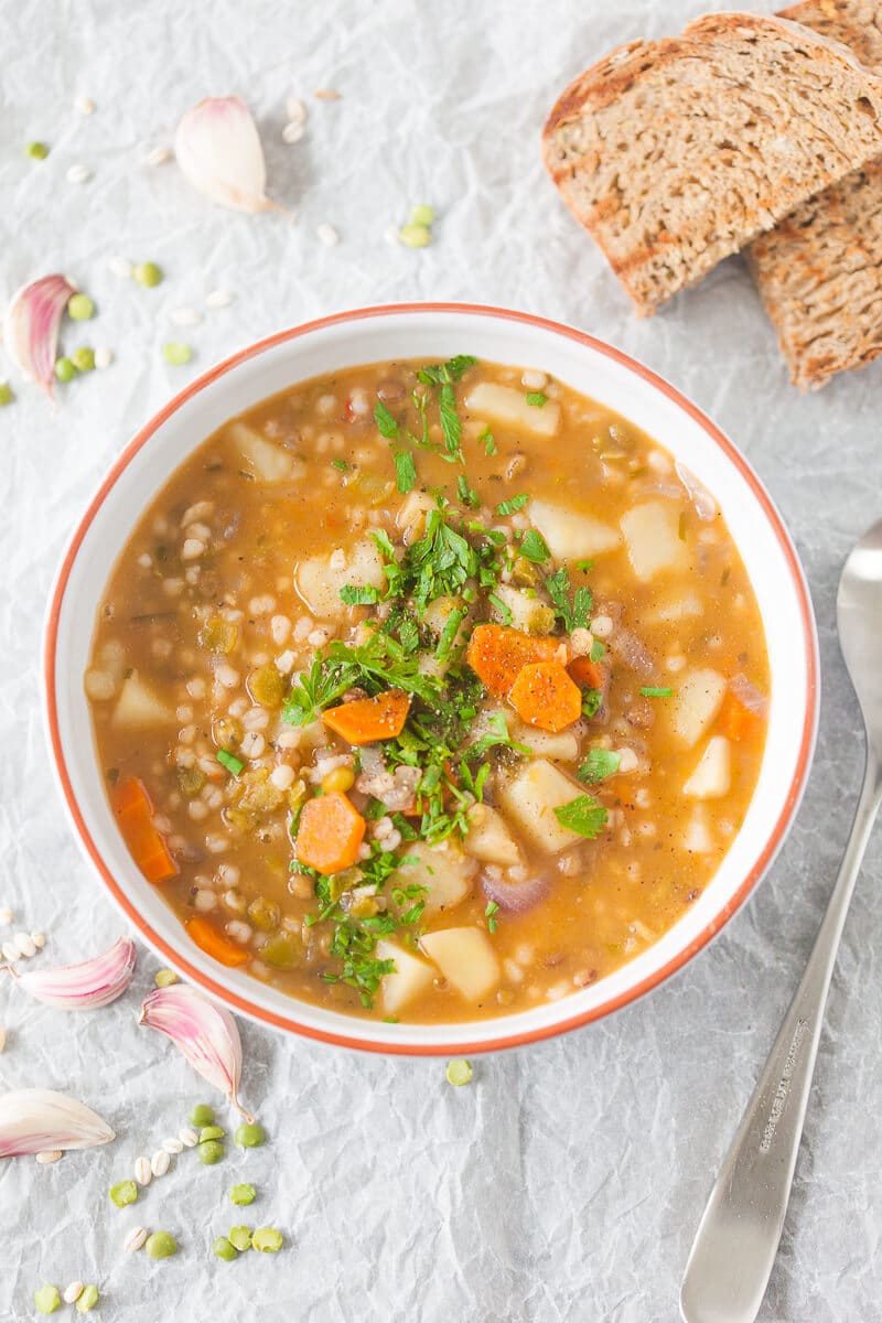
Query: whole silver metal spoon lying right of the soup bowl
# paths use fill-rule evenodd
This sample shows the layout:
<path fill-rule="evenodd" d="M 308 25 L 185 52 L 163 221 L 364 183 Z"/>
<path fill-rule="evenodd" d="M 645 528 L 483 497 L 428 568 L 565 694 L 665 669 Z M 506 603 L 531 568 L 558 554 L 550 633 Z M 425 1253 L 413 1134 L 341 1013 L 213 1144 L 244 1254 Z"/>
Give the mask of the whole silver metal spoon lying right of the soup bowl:
<path fill-rule="evenodd" d="M 685 1323 L 754 1323 L 784 1226 L 824 1003 L 882 802 L 882 521 L 852 549 L 836 598 L 840 647 L 866 733 L 863 786 L 803 980 L 710 1192 L 680 1293 Z"/>

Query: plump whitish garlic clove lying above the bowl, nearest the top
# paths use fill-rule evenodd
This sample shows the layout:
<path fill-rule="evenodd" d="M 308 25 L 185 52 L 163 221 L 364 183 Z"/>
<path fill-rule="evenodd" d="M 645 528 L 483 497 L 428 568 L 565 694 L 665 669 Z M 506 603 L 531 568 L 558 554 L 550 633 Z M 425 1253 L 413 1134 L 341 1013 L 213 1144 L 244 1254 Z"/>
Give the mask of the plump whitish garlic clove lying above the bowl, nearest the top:
<path fill-rule="evenodd" d="M 177 164 L 193 188 L 234 212 L 282 210 L 266 196 L 266 161 L 251 111 L 239 97 L 206 97 L 175 134 Z"/>

